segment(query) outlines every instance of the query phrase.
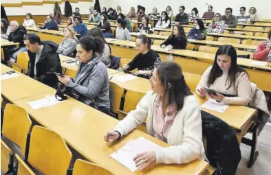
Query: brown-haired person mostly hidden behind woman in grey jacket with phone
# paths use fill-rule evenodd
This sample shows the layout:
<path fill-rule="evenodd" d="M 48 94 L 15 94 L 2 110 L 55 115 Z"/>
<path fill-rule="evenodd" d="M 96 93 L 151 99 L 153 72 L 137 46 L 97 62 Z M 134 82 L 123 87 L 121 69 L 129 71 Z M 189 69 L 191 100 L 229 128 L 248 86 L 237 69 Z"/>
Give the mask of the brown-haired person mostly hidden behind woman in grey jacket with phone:
<path fill-rule="evenodd" d="M 105 37 L 103 36 L 102 30 L 100 28 L 96 27 L 91 30 L 89 30 L 88 36 L 91 36 L 92 38 L 101 38 L 103 40 L 104 49 L 102 51 L 102 54 L 96 53 L 97 57 L 100 58 L 100 61 L 105 64 L 106 67 L 110 67 L 111 65 L 111 48 L 110 45 L 107 44 L 107 41 L 105 40 Z"/>

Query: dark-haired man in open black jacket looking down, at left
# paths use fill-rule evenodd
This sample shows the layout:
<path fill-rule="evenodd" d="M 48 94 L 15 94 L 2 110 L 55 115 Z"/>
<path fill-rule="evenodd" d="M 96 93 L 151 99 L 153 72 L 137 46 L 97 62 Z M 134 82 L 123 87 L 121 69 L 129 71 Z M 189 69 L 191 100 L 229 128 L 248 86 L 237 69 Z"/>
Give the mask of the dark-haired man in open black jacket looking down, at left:
<path fill-rule="evenodd" d="M 52 41 L 41 43 L 41 38 L 34 33 L 25 35 L 24 43 L 30 58 L 27 75 L 48 86 L 56 87 L 58 80 L 54 72 L 61 73 L 61 60 L 56 53 L 58 45 Z"/>

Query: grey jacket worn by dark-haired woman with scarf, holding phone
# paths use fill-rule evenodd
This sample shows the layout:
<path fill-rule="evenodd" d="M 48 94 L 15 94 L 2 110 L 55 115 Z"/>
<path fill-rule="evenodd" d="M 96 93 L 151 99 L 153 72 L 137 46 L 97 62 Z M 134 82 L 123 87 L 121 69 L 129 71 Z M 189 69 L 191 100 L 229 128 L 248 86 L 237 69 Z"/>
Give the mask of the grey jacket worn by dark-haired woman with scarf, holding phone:
<path fill-rule="evenodd" d="M 83 65 L 84 63 L 79 63 L 78 71 L 82 70 L 82 66 L 90 66 L 89 63 Z M 79 72 L 79 74 L 85 72 Z M 76 75 L 76 78 L 78 76 Z M 109 78 L 107 73 L 107 67 L 102 62 L 98 62 L 94 69 L 91 71 L 89 77 L 87 77 L 80 84 L 74 83 L 73 80 L 70 80 L 67 84 L 68 87 L 74 89 L 81 95 L 85 97 L 85 104 L 91 104 L 94 102 L 100 107 L 105 107 L 110 109 L 110 100 L 109 100 Z"/>

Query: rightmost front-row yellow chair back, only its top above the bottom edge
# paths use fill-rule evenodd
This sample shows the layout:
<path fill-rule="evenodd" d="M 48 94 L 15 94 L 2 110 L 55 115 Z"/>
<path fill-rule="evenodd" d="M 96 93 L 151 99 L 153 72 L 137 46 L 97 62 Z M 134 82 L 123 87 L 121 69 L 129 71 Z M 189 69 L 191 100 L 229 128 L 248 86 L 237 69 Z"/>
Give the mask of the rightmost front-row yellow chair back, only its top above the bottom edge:
<path fill-rule="evenodd" d="M 99 165 L 84 161 L 82 159 L 76 159 L 72 175 L 89 175 L 89 174 L 113 175 L 104 167 L 100 167 Z"/>

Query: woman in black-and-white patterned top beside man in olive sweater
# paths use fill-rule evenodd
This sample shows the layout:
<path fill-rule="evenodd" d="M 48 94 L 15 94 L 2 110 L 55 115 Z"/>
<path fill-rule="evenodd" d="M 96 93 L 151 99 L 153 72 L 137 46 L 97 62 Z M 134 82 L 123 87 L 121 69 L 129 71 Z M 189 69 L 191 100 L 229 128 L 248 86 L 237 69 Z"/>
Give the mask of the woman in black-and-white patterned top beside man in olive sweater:
<path fill-rule="evenodd" d="M 217 13 L 213 17 L 212 23 L 208 26 L 208 33 L 223 34 L 225 29 L 225 22 L 221 14 Z"/>

